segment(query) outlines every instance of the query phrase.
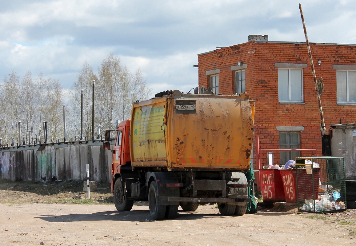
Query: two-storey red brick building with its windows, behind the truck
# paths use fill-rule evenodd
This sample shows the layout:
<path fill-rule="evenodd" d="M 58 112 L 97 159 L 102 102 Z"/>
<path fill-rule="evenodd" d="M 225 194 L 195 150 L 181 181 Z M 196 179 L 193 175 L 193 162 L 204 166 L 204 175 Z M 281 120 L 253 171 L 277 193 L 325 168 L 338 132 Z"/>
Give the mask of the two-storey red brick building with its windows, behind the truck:
<path fill-rule="evenodd" d="M 199 87 L 215 93 L 246 91 L 256 100 L 255 137 L 261 149 L 311 149 L 321 155 L 320 113 L 307 45 L 268 41 L 250 35 L 248 42 L 198 54 Z M 324 80 L 321 96 L 326 127 L 356 122 L 356 45 L 310 43 L 315 73 Z M 256 146 L 252 158 L 256 159 Z M 280 153 L 280 154 L 279 154 Z M 267 153 L 262 153 L 262 165 Z M 274 163 L 315 151 L 274 152 Z M 254 161 L 256 168 L 256 161 Z"/>

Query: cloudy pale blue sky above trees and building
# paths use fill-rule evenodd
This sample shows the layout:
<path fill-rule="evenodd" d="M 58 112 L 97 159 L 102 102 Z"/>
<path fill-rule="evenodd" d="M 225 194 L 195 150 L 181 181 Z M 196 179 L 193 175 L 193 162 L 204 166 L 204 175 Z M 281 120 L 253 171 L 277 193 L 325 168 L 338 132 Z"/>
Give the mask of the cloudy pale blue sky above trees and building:
<path fill-rule="evenodd" d="M 198 54 L 248 42 L 356 43 L 354 0 L 0 0 L 0 83 L 16 72 L 71 87 L 110 53 L 153 94 L 198 86 Z"/>

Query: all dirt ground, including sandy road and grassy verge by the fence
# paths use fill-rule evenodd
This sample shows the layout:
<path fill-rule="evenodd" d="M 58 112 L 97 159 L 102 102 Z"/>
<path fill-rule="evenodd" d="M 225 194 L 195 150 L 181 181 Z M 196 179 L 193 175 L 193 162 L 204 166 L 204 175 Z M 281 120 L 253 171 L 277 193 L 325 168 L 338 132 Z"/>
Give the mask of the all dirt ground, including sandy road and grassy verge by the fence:
<path fill-rule="evenodd" d="M 204 205 L 152 221 L 147 203 L 119 213 L 109 184 L 98 187 L 87 200 L 83 183 L 0 181 L 0 245 L 356 245 L 353 209 L 310 214 L 280 203 L 221 216 L 215 205 Z"/>

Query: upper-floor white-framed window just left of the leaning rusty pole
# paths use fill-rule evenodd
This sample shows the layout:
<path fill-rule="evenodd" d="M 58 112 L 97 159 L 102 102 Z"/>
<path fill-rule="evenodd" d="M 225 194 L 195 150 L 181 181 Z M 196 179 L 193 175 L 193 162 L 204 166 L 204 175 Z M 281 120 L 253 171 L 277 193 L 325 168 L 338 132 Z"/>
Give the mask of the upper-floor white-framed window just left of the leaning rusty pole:
<path fill-rule="evenodd" d="M 280 102 L 303 102 L 303 70 L 278 68 Z"/>

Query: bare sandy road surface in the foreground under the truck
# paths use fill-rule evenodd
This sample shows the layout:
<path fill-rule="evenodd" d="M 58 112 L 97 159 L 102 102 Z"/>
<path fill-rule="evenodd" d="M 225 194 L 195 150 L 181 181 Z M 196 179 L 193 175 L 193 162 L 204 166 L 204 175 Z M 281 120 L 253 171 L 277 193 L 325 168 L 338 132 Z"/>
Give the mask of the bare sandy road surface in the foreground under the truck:
<path fill-rule="evenodd" d="M 0 204 L 0 245 L 356 245 L 332 220 L 284 212 L 220 216 L 214 205 L 151 221 L 148 206 Z"/>

